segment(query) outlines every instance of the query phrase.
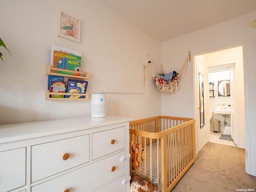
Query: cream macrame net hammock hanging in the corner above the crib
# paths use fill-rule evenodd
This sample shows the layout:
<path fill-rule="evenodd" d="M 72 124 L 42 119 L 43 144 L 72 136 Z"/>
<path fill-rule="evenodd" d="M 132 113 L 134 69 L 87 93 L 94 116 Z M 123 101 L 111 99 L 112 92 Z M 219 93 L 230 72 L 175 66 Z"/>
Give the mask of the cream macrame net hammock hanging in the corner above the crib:
<path fill-rule="evenodd" d="M 180 71 L 171 71 L 170 73 L 164 73 L 163 65 L 161 65 L 161 73 L 157 73 L 155 70 L 154 63 L 152 62 L 152 75 L 156 87 L 160 92 L 172 93 L 174 89 L 178 89 L 178 82 L 180 80 L 183 69 L 185 69 L 185 74 L 187 73 L 186 68 L 188 68 L 188 61 L 190 61 L 190 52 L 188 57 L 184 61 Z"/>

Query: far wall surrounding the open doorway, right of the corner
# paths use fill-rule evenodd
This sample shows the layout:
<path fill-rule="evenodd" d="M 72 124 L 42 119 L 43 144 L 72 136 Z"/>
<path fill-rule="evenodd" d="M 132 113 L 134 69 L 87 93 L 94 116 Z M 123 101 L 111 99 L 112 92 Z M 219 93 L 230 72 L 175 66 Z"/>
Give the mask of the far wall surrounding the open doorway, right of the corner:
<path fill-rule="evenodd" d="M 252 21 L 256 12 L 199 30 L 162 43 L 162 63 L 168 69 L 178 68 L 188 51 L 192 55 L 243 44 L 245 48 L 245 101 L 246 101 L 246 171 L 256 176 L 256 28 Z M 193 66 L 183 75 L 179 90 L 172 95 L 162 95 L 162 114 L 194 117 Z"/>

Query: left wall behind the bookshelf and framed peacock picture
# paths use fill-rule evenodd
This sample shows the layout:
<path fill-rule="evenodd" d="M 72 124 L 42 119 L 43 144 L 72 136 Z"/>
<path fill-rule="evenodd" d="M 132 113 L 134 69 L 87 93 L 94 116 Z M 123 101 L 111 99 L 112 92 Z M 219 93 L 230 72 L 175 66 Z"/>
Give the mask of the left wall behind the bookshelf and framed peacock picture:
<path fill-rule="evenodd" d="M 58 11 L 81 19 L 81 41 L 57 37 Z M 45 100 L 52 44 L 82 52 L 87 91 L 142 93 L 147 53 L 160 63 L 161 44 L 95 0 L 1 0 L 0 124 L 90 116 L 89 100 Z M 161 94 L 146 67 L 144 94 L 107 94 L 107 115 L 160 115 Z M 135 82 L 135 83 L 134 83 Z"/>

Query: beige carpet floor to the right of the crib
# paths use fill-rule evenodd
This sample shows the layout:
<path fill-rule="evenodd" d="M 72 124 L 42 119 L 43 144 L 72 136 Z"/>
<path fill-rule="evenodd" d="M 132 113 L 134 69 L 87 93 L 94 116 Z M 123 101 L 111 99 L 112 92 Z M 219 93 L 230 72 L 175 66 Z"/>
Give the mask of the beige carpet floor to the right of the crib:
<path fill-rule="evenodd" d="M 208 142 L 171 192 L 256 191 L 256 177 L 245 172 L 245 149 Z"/>

